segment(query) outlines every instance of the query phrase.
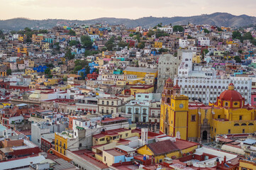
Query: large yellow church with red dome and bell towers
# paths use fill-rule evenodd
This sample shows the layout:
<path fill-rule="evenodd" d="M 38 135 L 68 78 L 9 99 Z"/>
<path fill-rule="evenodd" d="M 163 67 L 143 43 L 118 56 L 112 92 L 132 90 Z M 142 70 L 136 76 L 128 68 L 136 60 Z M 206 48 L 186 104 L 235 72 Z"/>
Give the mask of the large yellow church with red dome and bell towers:
<path fill-rule="evenodd" d="M 256 131 L 256 108 L 229 84 L 216 103 L 190 102 L 178 84 L 168 79 L 162 91 L 160 132 L 195 142 L 215 140 L 218 135 L 250 134 Z"/>

